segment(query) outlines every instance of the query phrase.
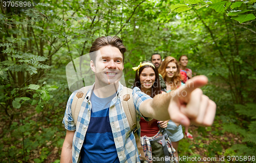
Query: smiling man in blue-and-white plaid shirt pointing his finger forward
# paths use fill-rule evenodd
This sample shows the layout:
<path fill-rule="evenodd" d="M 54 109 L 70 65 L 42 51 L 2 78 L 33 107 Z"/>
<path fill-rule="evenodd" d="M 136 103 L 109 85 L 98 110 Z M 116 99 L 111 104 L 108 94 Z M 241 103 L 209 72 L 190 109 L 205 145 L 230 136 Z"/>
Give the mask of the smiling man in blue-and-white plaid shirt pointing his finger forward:
<path fill-rule="evenodd" d="M 70 96 L 63 124 L 67 129 L 60 162 L 140 162 L 134 133 L 120 101 L 123 86 L 124 52 L 122 40 L 115 37 L 97 38 L 90 48 L 90 66 L 95 73 L 95 83 L 82 102 L 77 124 L 71 114 L 76 91 Z M 190 85 L 193 84 L 193 87 Z M 186 87 L 157 95 L 153 99 L 133 89 L 133 101 L 140 117 L 155 118 L 188 126 L 190 122 L 211 125 L 216 104 L 202 94 L 207 77 L 197 76 L 187 81 Z M 137 131 L 140 135 L 140 128 Z"/>

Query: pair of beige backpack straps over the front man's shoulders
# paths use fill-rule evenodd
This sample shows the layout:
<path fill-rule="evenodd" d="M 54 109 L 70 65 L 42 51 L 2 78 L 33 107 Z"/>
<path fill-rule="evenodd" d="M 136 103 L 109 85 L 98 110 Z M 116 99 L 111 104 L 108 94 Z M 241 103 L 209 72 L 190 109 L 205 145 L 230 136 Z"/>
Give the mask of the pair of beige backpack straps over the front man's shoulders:
<path fill-rule="evenodd" d="M 86 97 L 86 94 L 88 93 L 88 90 L 90 89 L 90 87 L 91 86 L 86 86 L 86 87 L 79 89 L 72 101 L 71 113 L 74 118 L 75 124 L 77 123 L 77 118 L 78 118 L 78 115 L 80 112 L 82 101 Z M 144 151 L 143 151 L 143 149 L 141 147 L 141 143 L 140 143 L 140 138 L 137 134 L 137 115 L 136 115 L 136 110 L 135 110 L 135 106 L 133 103 L 132 93 L 133 93 L 132 89 L 123 87 L 123 93 L 122 93 L 123 95 L 121 97 L 121 103 L 123 105 L 123 110 L 127 117 L 130 129 L 131 129 L 131 131 L 133 131 L 133 133 L 135 135 L 137 148 L 141 154 L 141 157 L 145 159 Z"/>

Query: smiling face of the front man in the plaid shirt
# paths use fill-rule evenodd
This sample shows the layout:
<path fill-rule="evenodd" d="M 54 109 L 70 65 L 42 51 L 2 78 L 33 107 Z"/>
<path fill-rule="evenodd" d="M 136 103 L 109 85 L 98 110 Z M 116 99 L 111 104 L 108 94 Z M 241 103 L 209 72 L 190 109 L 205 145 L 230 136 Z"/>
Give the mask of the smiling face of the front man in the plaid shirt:
<path fill-rule="evenodd" d="M 123 70 L 123 58 L 120 50 L 107 45 L 99 48 L 95 55 L 97 55 L 96 63 L 91 61 L 91 69 L 95 73 L 95 83 L 102 86 L 117 83 Z"/>

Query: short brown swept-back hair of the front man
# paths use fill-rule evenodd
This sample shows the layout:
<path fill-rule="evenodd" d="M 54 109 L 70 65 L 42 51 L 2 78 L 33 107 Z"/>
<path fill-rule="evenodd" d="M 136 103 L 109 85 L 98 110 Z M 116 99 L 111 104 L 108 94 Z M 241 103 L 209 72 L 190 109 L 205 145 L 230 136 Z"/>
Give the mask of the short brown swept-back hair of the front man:
<path fill-rule="evenodd" d="M 123 45 L 123 41 L 118 37 L 118 36 L 102 36 L 97 38 L 91 48 L 90 48 L 90 58 L 91 60 L 93 60 L 93 62 L 95 62 L 96 59 L 96 55 L 94 53 L 94 51 L 99 50 L 99 48 L 101 48 L 102 46 L 106 46 L 106 45 L 111 45 L 114 47 L 117 47 L 120 52 L 122 53 L 123 56 L 123 63 L 124 63 L 124 52 L 126 51 L 125 46 Z"/>

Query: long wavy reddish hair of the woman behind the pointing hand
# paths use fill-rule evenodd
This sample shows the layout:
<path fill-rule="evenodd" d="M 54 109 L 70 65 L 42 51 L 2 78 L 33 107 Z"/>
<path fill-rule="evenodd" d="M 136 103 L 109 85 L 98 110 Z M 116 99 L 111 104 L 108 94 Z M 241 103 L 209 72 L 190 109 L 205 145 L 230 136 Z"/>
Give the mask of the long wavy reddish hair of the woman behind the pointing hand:
<path fill-rule="evenodd" d="M 175 58 L 168 56 L 164 59 L 158 71 L 163 76 L 164 82 L 166 82 L 166 67 L 170 62 L 175 63 L 177 66 L 177 73 L 175 74 L 174 77 L 172 77 L 172 80 L 171 80 L 173 82 L 171 90 L 173 91 L 173 90 L 176 90 L 181 85 L 180 84 L 181 83 L 180 65 L 178 64 L 178 61 Z"/>

